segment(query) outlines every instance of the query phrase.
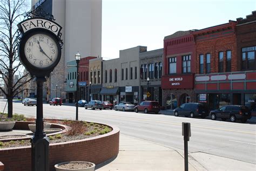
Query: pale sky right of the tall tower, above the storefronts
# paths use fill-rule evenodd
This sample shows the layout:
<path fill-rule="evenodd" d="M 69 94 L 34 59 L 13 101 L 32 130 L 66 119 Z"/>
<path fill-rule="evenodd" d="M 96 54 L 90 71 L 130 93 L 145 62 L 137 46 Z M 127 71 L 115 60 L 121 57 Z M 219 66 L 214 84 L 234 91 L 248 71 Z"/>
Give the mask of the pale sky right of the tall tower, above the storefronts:
<path fill-rule="evenodd" d="M 102 0 L 102 57 L 119 58 L 119 50 L 163 48 L 165 36 L 246 18 L 253 0 Z"/>

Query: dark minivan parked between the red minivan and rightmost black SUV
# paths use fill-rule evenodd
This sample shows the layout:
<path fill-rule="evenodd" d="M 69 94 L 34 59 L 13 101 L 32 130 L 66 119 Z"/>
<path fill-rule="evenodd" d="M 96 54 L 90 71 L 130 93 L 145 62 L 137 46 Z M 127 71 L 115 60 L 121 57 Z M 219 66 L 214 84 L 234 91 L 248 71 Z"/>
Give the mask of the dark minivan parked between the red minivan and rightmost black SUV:
<path fill-rule="evenodd" d="M 182 104 L 176 109 L 173 110 L 174 116 L 178 117 L 179 115 L 184 115 L 185 117 L 208 117 L 209 111 L 208 107 L 205 104 L 199 102 L 188 102 Z"/>

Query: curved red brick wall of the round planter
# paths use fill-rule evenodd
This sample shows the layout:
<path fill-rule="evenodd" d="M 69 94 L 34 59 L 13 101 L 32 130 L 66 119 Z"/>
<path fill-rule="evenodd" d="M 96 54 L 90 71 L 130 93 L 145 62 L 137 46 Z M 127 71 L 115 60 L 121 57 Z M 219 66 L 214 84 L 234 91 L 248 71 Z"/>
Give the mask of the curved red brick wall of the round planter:
<path fill-rule="evenodd" d="M 28 127 L 28 125 L 26 126 Z M 55 170 L 54 165 L 60 162 L 89 161 L 97 165 L 117 156 L 119 152 L 119 128 L 111 127 L 113 131 L 104 135 L 50 144 L 50 170 Z M 0 161 L 4 163 L 4 171 L 31 171 L 31 147 L 0 149 Z"/>

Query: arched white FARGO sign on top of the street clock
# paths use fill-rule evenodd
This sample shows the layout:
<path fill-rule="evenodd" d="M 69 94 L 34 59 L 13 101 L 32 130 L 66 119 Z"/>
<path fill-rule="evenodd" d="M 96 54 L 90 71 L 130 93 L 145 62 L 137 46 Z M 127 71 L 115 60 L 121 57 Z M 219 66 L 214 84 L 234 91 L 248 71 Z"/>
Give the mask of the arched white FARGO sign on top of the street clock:
<path fill-rule="evenodd" d="M 26 19 L 23 22 L 19 23 L 18 27 L 20 30 L 23 31 L 23 33 L 32 29 L 46 29 L 54 33 L 56 36 L 58 36 L 58 33 L 62 29 L 59 24 L 43 18 Z"/>

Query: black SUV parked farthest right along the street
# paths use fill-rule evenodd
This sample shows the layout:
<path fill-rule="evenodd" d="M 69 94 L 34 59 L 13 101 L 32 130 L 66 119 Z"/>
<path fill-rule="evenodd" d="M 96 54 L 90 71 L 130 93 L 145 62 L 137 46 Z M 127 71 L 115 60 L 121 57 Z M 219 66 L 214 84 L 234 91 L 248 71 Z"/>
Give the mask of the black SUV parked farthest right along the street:
<path fill-rule="evenodd" d="M 232 122 L 237 121 L 237 119 L 241 120 L 241 122 L 246 122 L 247 119 L 252 117 L 249 108 L 240 105 L 226 105 L 220 107 L 218 110 L 211 111 L 210 115 L 212 120 L 221 118 L 223 121 L 230 119 Z"/>

